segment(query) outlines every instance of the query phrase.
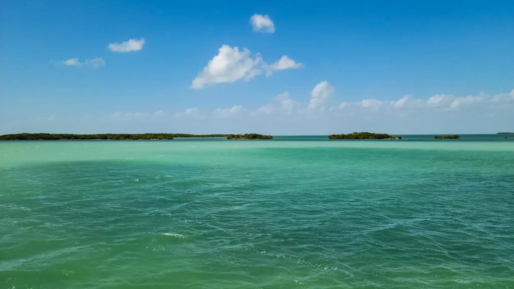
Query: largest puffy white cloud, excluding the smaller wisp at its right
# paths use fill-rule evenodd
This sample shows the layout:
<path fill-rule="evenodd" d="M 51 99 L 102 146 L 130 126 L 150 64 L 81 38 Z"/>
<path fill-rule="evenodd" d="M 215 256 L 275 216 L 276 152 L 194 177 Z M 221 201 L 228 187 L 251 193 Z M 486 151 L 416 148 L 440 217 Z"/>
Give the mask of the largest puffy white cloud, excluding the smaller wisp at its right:
<path fill-rule="evenodd" d="M 209 60 L 207 66 L 193 80 L 191 88 L 202 89 L 206 85 L 222 82 L 235 82 L 242 78 L 245 81 L 261 74 L 261 69 L 255 68 L 262 62 L 261 55 L 250 57 L 250 50 L 223 45 L 218 49 L 218 55 Z"/>

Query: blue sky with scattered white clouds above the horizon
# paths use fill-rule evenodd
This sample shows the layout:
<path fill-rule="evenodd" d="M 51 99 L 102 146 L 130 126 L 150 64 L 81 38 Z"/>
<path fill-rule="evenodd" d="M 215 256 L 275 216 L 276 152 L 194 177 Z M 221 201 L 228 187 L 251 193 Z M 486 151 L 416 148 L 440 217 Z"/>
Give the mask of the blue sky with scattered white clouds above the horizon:
<path fill-rule="evenodd" d="M 513 15 L 511 1 L 0 1 L 0 134 L 512 131 Z"/>

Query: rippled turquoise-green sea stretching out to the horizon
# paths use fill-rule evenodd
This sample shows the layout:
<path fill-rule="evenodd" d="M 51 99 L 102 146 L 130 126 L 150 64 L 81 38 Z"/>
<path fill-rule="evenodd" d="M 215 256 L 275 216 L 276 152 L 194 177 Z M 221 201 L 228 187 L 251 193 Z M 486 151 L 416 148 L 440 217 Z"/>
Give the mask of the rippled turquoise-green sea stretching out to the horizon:
<path fill-rule="evenodd" d="M 0 141 L 0 288 L 514 288 L 505 136 Z"/>

